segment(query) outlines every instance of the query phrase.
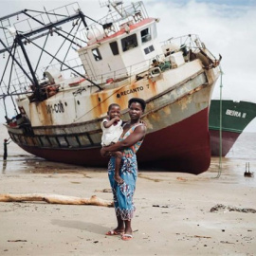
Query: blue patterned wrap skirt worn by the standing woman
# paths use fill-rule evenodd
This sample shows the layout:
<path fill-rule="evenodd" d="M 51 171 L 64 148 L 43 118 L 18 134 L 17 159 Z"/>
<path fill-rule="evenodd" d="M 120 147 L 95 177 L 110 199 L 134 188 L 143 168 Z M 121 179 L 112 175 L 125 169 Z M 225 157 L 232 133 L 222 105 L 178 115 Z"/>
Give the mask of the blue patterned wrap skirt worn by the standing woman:
<path fill-rule="evenodd" d="M 114 196 L 114 207 L 117 217 L 122 220 L 131 220 L 136 210 L 133 202 L 134 193 L 136 190 L 137 181 L 137 157 L 122 156 L 121 168 L 119 171 L 120 177 L 123 179 L 122 184 L 114 179 L 115 175 L 115 157 L 112 156 L 108 163 L 108 177 Z"/>

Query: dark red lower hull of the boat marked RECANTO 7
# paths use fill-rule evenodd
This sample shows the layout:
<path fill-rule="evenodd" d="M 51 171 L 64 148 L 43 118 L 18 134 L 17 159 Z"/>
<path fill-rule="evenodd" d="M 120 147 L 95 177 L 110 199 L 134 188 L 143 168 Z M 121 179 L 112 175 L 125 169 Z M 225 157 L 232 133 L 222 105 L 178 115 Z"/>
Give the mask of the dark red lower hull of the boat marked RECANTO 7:
<path fill-rule="evenodd" d="M 47 160 L 82 166 L 105 166 L 100 148 L 44 149 L 22 146 L 27 152 Z M 165 171 L 201 174 L 210 166 L 208 108 L 192 117 L 148 134 L 137 154 L 138 163 Z"/>

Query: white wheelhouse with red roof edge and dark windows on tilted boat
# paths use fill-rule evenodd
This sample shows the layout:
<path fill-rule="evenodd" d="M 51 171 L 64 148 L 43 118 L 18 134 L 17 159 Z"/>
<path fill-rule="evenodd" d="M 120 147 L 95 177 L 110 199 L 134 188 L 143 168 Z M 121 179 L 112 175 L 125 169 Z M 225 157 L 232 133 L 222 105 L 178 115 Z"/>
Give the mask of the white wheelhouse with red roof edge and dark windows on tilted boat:
<path fill-rule="evenodd" d="M 125 23 L 110 36 L 92 38 L 88 46 L 79 49 L 78 53 L 86 75 L 105 83 L 148 69 L 145 61 L 152 60 L 162 52 L 156 40 L 155 19 L 147 18 L 137 24 Z"/>

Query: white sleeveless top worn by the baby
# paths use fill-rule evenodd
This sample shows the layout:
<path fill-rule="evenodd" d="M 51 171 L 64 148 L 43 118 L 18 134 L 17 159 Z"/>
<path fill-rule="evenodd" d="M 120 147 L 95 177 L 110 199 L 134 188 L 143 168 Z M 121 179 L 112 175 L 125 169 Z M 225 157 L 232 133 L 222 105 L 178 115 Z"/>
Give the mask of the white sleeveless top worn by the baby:
<path fill-rule="evenodd" d="M 123 129 L 121 127 L 122 120 L 119 120 L 116 125 L 112 124 L 108 128 L 105 128 L 103 124 L 106 121 L 109 121 L 109 119 L 103 119 L 101 122 L 101 129 L 102 129 L 101 145 L 102 146 L 109 146 L 113 143 L 117 143 L 119 141 L 119 137 L 123 132 Z"/>

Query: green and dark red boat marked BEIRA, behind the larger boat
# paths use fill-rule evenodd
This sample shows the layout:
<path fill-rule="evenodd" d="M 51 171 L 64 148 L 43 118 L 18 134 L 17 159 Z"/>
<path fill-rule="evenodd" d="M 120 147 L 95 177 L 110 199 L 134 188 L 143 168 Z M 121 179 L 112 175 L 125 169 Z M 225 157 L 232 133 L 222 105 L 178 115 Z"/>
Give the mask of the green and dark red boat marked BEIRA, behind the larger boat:
<path fill-rule="evenodd" d="M 221 155 L 225 156 L 229 153 L 236 139 L 243 133 L 249 122 L 255 119 L 255 117 L 256 103 L 249 101 L 211 100 L 209 115 L 211 155 L 220 155 L 220 119 L 222 119 Z"/>

